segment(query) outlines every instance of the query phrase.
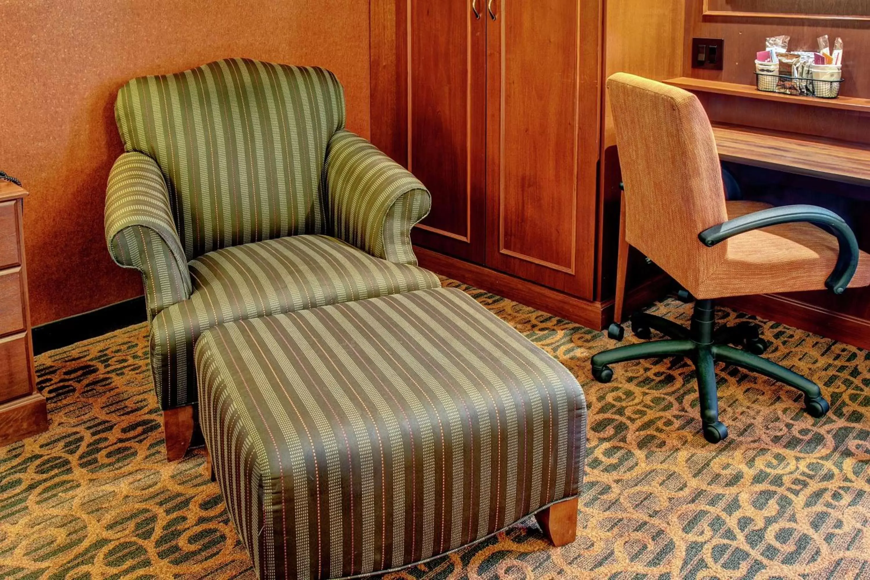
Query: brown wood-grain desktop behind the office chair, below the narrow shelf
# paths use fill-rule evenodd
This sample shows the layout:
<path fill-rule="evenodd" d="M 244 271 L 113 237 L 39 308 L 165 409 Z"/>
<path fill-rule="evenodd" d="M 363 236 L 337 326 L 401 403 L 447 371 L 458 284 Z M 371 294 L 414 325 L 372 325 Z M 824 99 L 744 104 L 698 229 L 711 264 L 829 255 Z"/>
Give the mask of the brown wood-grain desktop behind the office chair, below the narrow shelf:
<path fill-rule="evenodd" d="M 870 146 L 736 125 L 713 125 L 722 161 L 870 187 Z"/>

